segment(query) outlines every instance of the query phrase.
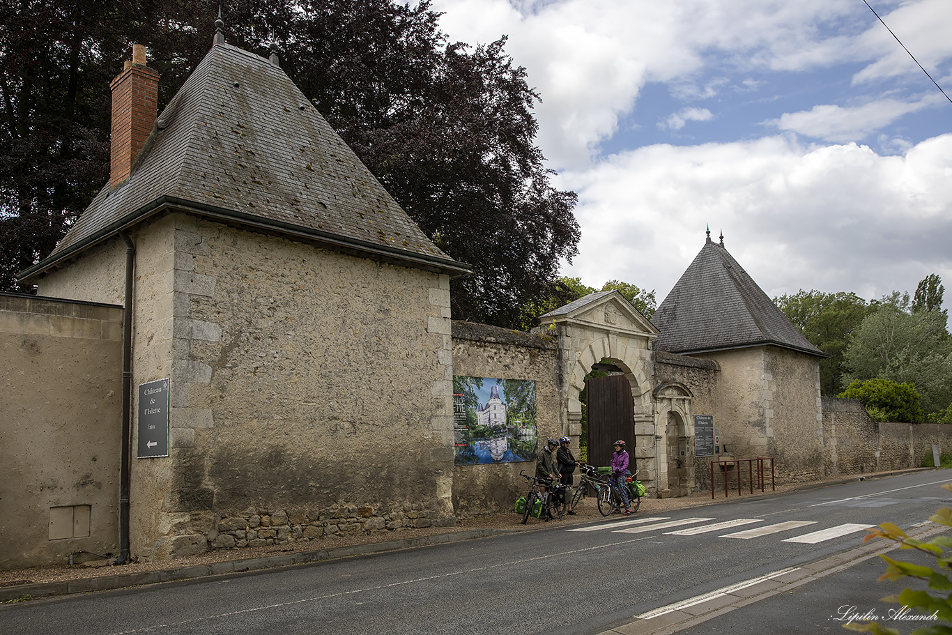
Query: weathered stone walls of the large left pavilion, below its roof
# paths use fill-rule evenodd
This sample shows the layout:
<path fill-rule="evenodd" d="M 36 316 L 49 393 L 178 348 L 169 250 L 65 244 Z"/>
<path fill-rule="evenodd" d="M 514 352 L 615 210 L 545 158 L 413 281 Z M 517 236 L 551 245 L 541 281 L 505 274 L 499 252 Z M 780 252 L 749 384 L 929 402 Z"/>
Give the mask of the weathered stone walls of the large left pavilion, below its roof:
<path fill-rule="evenodd" d="M 181 213 L 133 239 L 134 384 L 171 393 L 170 456 L 133 460 L 133 556 L 455 522 L 446 275 Z M 120 243 L 41 285 L 117 292 Z"/>

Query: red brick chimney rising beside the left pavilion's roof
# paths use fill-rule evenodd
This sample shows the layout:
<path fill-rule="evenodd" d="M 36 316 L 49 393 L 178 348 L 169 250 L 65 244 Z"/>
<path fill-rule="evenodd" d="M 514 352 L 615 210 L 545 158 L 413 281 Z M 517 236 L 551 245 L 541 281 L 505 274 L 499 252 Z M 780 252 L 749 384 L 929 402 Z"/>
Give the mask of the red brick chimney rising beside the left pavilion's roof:
<path fill-rule="evenodd" d="M 112 89 L 112 140 L 109 185 L 129 178 L 139 151 L 155 124 L 159 107 L 159 73 L 146 67 L 146 47 L 132 46 L 132 61 L 109 84 Z"/>

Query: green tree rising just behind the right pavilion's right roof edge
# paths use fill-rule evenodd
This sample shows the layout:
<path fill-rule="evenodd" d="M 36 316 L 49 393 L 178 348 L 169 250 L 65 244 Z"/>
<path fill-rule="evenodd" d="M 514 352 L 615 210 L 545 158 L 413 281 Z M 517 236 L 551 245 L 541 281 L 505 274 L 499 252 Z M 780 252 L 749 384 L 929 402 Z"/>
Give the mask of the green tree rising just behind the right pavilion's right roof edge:
<path fill-rule="evenodd" d="M 829 355 L 828 359 L 820 361 L 823 394 L 836 394 L 842 390 L 843 352 L 853 332 L 872 310 L 866 301 L 852 292 L 824 293 L 801 289 L 793 295 L 774 298 L 774 304 L 800 328 L 810 344 Z"/>

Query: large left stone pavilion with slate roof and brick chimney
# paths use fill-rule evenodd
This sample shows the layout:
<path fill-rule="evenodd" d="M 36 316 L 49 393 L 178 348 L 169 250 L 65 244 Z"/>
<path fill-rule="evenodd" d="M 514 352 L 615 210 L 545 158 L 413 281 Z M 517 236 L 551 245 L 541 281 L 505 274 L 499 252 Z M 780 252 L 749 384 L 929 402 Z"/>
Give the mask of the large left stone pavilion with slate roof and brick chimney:
<path fill-rule="evenodd" d="M 135 48 L 111 84 L 109 183 L 22 276 L 127 308 L 131 554 L 451 524 L 449 278 L 468 267 L 275 50 L 228 45 L 217 24 L 158 116 L 160 78 Z M 163 385 L 167 405 L 142 396 Z"/>

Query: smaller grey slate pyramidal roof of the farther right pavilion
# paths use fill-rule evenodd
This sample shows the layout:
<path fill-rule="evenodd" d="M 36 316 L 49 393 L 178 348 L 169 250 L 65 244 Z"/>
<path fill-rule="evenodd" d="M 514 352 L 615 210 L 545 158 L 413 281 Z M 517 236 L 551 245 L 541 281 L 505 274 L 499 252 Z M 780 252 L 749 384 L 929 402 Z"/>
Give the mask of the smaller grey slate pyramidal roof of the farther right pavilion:
<path fill-rule="evenodd" d="M 661 331 L 655 348 L 673 353 L 776 346 L 827 357 L 710 237 L 651 323 Z"/>

